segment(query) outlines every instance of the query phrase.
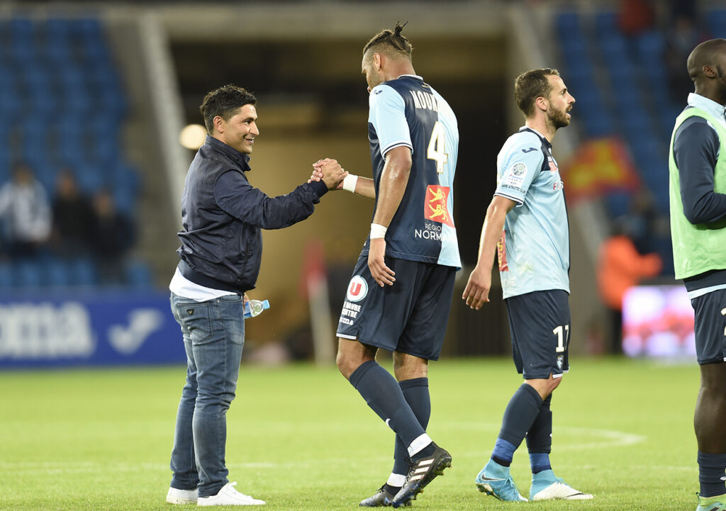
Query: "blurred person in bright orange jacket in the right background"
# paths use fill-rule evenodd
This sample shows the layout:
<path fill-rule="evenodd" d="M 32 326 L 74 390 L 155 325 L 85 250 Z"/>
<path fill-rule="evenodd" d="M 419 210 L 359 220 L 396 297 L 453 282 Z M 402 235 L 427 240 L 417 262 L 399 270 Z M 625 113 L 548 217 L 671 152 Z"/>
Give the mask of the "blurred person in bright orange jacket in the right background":
<path fill-rule="evenodd" d="M 662 267 L 658 254 L 640 255 L 629 231 L 628 219 L 617 218 L 611 237 L 600 247 L 597 262 L 597 287 L 611 316 L 612 353 L 621 351 L 623 295 L 642 279 L 658 275 Z"/>

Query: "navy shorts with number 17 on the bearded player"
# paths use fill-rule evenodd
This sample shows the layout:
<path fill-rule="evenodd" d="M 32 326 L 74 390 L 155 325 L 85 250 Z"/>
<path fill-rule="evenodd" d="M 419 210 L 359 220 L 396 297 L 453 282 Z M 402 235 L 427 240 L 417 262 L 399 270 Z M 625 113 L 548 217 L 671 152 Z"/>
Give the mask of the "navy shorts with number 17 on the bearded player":
<path fill-rule="evenodd" d="M 570 369 L 568 298 L 565 290 L 548 290 L 505 300 L 514 364 L 526 380 L 561 377 Z"/>

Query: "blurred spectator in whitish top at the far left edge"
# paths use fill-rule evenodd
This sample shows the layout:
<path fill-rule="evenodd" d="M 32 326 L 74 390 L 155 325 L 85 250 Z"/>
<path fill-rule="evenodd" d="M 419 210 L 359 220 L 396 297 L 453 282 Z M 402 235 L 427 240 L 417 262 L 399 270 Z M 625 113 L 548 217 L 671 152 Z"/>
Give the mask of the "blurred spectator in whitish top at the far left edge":
<path fill-rule="evenodd" d="M 25 163 L 15 165 L 12 179 L 0 188 L 0 218 L 5 251 L 12 258 L 32 257 L 46 245 L 51 231 L 48 195 Z"/>

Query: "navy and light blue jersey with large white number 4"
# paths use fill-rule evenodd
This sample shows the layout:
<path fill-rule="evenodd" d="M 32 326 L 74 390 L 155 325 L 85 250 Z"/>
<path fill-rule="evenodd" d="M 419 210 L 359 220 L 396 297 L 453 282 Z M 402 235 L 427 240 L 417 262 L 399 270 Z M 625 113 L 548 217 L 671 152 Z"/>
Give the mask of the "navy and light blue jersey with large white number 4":
<path fill-rule="evenodd" d="M 368 138 L 377 196 L 386 152 L 399 146 L 412 152 L 406 192 L 386 233 L 386 255 L 460 269 L 454 224 L 456 115 L 441 94 L 414 75 L 375 86 L 369 106 Z M 369 240 L 361 255 L 367 255 L 368 247 Z"/>

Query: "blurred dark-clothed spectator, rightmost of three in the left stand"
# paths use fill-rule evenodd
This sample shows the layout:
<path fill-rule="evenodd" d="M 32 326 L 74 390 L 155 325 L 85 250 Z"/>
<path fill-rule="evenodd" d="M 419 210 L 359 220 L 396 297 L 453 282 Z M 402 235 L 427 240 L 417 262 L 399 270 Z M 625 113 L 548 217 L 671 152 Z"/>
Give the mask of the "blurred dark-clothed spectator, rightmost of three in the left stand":
<path fill-rule="evenodd" d="M 99 282 L 123 284 L 126 275 L 126 255 L 134 246 L 136 233 L 131 220 L 116 209 L 113 196 L 101 189 L 93 199 L 91 250 L 96 258 Z"/>

